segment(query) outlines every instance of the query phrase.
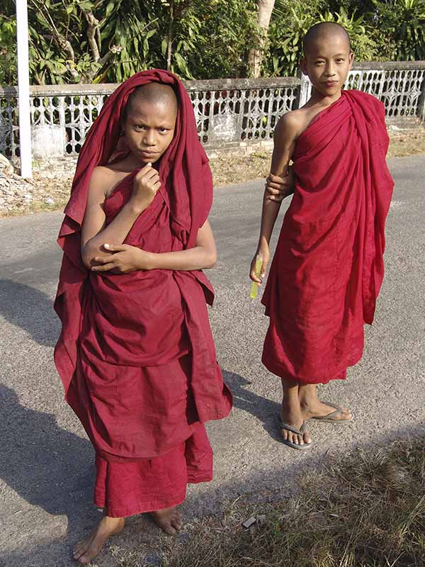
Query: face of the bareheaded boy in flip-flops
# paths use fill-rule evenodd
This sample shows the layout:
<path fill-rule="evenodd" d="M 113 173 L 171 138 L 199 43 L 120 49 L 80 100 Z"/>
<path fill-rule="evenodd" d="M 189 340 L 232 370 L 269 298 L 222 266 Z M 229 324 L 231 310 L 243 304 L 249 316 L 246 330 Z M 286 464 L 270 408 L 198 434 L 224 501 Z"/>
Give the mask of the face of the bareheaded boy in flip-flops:
<path fill-rule="evenodd" d="M 344 34 L 324 35 L 309 46 L 302 60 L 302 72 L 323 96 L 339 93 L 353 64 L 354 54 Z"/>

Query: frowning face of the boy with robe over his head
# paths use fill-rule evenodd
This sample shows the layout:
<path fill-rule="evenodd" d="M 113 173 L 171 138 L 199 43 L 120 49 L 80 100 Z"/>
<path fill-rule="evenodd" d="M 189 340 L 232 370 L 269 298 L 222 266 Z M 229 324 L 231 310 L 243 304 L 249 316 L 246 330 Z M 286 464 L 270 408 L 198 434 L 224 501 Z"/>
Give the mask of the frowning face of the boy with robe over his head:
<path fill-rule="evenodd" d="M 123 124 L 125 141 L 143 166 L 157 162 L 173 140 L 177 111 L 167 101 L 136 97 L 129 104 Z"/>

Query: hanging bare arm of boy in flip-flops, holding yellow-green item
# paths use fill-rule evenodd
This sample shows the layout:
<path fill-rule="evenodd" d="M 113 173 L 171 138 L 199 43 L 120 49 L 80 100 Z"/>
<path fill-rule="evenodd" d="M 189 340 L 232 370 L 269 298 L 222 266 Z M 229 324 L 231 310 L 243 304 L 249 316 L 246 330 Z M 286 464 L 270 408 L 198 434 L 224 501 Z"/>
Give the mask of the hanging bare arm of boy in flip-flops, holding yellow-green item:
<path fill-rule="evenodd" d="M 271 158 L 271 174 L 285 176 L 288 174 L 288 166 L 295 148 L 295 140 L 300 130 L 299 120 L 292 113 L 280 118 L 274 133 L 274 148 Z M 261 228 L 259 244 L 251 262 L 250 278 L 257 283 L 261 283 L 266 275 L 268 260 L 270 259 L 269 243 L 273 232 L 276 218 L 280 209 L 281 201 L 272 201 L 267 189 L 264 191 L 263 208 L 261 211 Z M 260 277 L 255 274 L 256 256 L 261 254 L 263 265 Z"/>

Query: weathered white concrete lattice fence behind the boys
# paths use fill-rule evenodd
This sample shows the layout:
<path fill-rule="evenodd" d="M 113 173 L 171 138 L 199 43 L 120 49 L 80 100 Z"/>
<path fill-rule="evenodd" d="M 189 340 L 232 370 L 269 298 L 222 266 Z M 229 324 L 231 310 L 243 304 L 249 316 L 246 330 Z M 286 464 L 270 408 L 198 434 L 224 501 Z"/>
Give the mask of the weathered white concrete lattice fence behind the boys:
<path fill-rule="evenodd" d="M 35 155 L 77 155 L 84 137 L 116 84 L 32 86 L 30 112 Z M 305 77 L 214 79 L 185 82 L 205 148 L 270 145 L 276 121 L 310 96 Z M 425 120 L 425 62 L 356 64 L 347 79 L 378 97 L 388 123 Z M 0 152 L 19 155 L 15 87 L 0 88 Z M 40 134 L 41 135 L 38 135 Z"/>

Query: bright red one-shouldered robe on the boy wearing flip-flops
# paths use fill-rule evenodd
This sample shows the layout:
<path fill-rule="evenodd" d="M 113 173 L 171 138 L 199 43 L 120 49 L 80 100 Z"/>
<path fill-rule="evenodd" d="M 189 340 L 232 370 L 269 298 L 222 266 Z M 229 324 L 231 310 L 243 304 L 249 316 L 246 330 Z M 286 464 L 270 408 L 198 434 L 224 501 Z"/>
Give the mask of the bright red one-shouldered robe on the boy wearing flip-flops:
<path fill-rule="evenodd" d="M 361 359 L 384 275 L 388 142 L 382 103 L 361 91 L 342 91 L 297 138 L 295 193 L 262 298 L 262 360 L 281 378 L 327 383 Z"/>

